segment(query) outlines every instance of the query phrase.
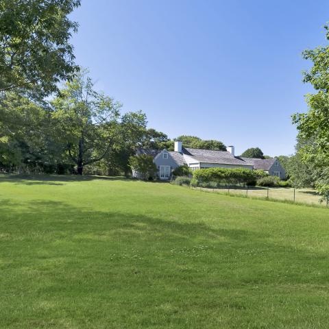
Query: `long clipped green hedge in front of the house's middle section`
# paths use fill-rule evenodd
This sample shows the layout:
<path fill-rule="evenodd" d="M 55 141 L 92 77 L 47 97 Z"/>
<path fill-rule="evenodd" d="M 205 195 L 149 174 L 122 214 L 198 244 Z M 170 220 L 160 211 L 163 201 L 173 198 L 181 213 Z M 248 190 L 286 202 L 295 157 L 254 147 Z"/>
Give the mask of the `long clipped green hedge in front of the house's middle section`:
<path fill-rule="evenodd" d="M 221 182 L 228 184 L 254 184 L 259 171 L 250 169 L 208 168 L 193 171 L 193 178 L 199 182 Z"/>

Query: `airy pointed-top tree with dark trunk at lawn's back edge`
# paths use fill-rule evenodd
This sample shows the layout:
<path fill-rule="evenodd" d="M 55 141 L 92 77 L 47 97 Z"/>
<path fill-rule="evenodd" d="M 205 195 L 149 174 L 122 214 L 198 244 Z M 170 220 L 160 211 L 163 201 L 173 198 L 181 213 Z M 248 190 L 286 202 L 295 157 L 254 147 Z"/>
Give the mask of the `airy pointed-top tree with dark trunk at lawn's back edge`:
<path fill-rule="evenodd" d="M 51 103 L 58 138 L 77 165 L 77 173 L 82 175 L 86 164 L 103 159 L 114 145 L 121 104 L 97 93 L 86 71 L 67 82 L 61 96 Z"/>

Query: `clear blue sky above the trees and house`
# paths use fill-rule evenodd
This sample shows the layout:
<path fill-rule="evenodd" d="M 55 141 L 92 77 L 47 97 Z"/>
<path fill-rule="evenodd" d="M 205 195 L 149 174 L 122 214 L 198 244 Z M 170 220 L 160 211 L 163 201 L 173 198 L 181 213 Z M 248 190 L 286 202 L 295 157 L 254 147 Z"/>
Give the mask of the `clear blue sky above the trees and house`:
<path fill-rule="evenodd" d="M 306 110 L 302 59 L 325 45 L 329 1 L 82 0 L 77 64 L 149 127 L 292 154 Z"/>

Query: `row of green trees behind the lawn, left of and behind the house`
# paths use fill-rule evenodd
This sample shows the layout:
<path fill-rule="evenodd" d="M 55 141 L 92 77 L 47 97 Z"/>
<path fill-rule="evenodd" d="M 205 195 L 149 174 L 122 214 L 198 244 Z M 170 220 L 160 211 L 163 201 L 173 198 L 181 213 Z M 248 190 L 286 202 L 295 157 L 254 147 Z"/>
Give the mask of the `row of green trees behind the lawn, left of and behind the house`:
<path fill-rule="evenodd" d="M 225 149 L 219 141 L 179 136 L 187 147 Z M 80 71 L 57 97 L 36 101 L 3 92 L 0 97 L 0 170 L 18 173 L 129 175 L 138 147 L 173 149 L 163 132 L 147 128 L 141 112 L 95 90 Z"/>

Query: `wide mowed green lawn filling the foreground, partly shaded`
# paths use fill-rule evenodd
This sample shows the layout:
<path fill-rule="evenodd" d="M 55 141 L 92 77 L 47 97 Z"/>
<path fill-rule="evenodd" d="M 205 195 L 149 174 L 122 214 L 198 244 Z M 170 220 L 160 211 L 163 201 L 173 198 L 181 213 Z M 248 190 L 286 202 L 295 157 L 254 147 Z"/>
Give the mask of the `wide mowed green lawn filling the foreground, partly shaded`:
<path fill-rule="evenodd" d="M 0 177 L 1 328 L 329 328 L 329 210 Z"/>

